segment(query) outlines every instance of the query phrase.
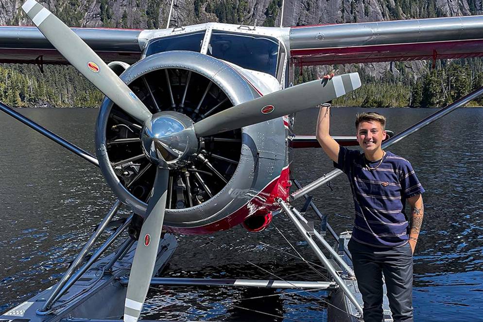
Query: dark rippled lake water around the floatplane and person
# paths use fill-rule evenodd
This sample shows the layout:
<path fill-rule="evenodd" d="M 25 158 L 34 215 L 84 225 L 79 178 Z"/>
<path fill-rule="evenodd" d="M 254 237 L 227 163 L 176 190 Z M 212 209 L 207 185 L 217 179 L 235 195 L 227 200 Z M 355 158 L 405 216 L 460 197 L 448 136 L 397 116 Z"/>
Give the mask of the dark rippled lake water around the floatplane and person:
<path fill-rule="evenodd" d="M 359 111 L 334 108 L 331 134 L 353 135 L 354 115 Z M 97 110 L 20 112 L 94 152 Z M 379 112 L 388 117 L 387 128 L 399 132 L 435 110 Z M 313 134 L 316 117 L 315 109 L 299 113 L 297 134 Z M 416 321 L 483 321 L 479 313 L 483 306 L 482 133 L 483 109 L 461 109 L 389 149 L 412 162 L 426 189 L 425 220 L 414 255 Z M 59 279 L 116 198 L 99 169 L 4 114 L 0 114 L 0 137 L 0 311 L 5 312 Z M 317 149 L 294 151 L 293 160 L 292 174 L 304 184 L 333 169 Z M 350 230 L 353 204 L 345 177 L 335 179 L 331 188 L 314 193 L 316 204 L 329 215 L 336 231 Z M 314 215 L 308 213 L 308 217 Z M 314 272 L 286 254 L 294 251 L 285 238 L 302 256 L 317 262 L 281 215 L 259 234 L 235 228 L 211 236 L 179 236 L 179 249 L 165 274 L 323 280 L 319 274 L 326 271 Z M 324 295 L 323 291 L 243 288 L 153 289 L 144 317 L 323 321 Z"/>

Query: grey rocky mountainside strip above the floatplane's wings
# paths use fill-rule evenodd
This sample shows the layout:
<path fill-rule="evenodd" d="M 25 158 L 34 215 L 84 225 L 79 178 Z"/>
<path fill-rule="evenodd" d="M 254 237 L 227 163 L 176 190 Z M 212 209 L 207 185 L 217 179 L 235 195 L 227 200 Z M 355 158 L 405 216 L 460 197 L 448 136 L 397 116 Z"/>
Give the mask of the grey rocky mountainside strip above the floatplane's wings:
<path fill-rule="evenodd" d="M 1 0 L 1 25 L 31 25 L 24 1 Z M 165 28 L 171 0 L 41 0 L 71 27 Z M 282 0 L 174 0 L 170 27 L 204 22 L 280 24 Z M 283 25 L 481 14 L 481 0 L 285 0 Z"/>

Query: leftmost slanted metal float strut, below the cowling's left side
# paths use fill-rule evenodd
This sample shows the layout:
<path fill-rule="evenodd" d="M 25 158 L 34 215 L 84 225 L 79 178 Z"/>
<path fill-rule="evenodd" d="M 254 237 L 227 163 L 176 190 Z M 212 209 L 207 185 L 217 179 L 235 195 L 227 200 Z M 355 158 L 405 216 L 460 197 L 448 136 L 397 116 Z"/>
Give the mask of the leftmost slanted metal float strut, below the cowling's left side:
<path fill-rule="evenodd" d="M 107 227 L 109 222 L 111 222 L 112 218 L 117 213 L 120 206 L 121 206 L 121 202 L 117 200 L 114 203 L 114 205 L 111 207 L 109 212 L 105 215 L 103 221 L 99 224 L 99 226 L 97 226 L 96 231 L 91 235 L 89 240 L 87 240 L 86 244 L 79 252 L 79 254 L 77 254 L 72 264 L 70 264 L 69 269 L 64 273 L 64 276 L 62 276 L 62 278 L 60 279 L 59 283 L 57 283 L 55 288 L 52 289 L 52 293 L 49 295 L 49 298 L 47 299 L 47 301 L 45 301 L 45 305 L 42 307 L 43 311 L 46 311 L 51 307 L 53 299 L 59 294 L 61 289 L 69 280 L 70 276 L 72 276 L 75 270 L 77 270 L 79 266 L 82 264 L 84 256 L 86 256 L 87 252 L 90 250 L 92 245 L 97 241 L 97 238 L 101 236 L 101 234 L 104 232 L 104 229 Z"/>

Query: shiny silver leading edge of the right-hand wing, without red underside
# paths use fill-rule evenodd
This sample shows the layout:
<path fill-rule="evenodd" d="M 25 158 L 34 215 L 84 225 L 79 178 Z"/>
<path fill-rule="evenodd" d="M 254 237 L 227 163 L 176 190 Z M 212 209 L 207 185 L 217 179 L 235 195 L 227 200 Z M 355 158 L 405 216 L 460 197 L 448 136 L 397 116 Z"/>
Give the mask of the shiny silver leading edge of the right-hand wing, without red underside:
<path fill-rule="evenodd" d="M 290 29 L 290 49 L 482 39 L 483 16 L 333 24 Z"/>

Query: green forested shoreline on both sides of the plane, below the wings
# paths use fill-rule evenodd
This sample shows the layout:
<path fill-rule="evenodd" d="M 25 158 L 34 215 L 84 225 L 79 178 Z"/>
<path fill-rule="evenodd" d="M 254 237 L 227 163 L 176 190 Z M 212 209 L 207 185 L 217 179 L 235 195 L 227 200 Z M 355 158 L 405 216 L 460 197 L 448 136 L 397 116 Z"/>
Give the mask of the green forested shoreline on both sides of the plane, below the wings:
<path fill-rule="evenodd" d="M 362 86 L 334 100 L 334 106 L 442 107 L 483 86 L 481 59 L 438 62 L 417 78 L 404 67 L 398 76 L 387 72 L 379 79 L 361 65 L 341 69 L 358 71 Z M 296 68 L 295 75 L 295 84 L 300 84 L 317 79 L 321 71 L 304 68 L 300 75 Z M 35 65 L 0 65 L 0 101 L 11 107 L 98 107 L 103 97 L 71 66 L 44 66 L 41 73 Z M 468 104 L 482 105 L 483 98 Z"/>

